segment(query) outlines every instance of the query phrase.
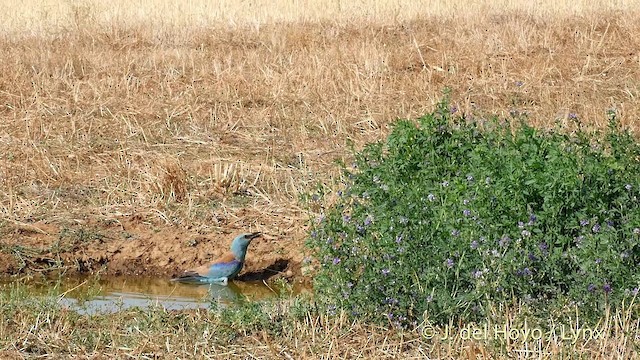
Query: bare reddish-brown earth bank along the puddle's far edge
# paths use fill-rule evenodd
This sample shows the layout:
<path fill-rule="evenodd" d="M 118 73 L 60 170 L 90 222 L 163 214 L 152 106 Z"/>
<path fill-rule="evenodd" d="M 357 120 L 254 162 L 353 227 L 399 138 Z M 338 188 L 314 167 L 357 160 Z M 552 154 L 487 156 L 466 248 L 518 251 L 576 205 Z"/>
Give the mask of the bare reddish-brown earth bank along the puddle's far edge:
<path fill-rule="evenodd" d="M 135 216 L 85 223 L 11 222 L 2 226 L 0 276 L 64 271 L 71 275 L 144 275 L 170 278 L 210 263 L 233 238 L 259 228 L 219 233 L 143 221 Z M 286 279 L 301 274 L 302 239 L 264 231 L 249 247 L 239 280 Z"/>

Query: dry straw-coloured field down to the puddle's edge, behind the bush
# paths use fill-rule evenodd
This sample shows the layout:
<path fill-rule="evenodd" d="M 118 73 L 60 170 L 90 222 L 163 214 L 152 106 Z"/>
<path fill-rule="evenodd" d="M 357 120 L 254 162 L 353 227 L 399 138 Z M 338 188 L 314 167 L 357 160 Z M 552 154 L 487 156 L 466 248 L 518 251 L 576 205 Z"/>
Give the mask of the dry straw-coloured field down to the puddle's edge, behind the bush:
<path fill-rule="evenodd" d="M 301 194 L 445 88 L 468 117 L 640 130 L 634 1 L 27 3 L 0 2 L 5 274 L 171 274 L 250 230 L 250 272 L 300 278 Z"/>

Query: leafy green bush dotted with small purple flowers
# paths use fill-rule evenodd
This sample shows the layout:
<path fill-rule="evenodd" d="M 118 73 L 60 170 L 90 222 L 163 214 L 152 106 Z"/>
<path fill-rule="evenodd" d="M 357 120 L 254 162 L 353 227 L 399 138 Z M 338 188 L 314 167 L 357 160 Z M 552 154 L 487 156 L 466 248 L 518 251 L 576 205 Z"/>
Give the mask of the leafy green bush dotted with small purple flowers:
<path fill-rule="evenodd" d="M 317 300 L 397 325 L 487 316 L 489 303 L 592 314 L 640 284 L 640 146 L 616 125 L 544 132 L 441 103 L 345 167 L 312 225 Z M 517 126 L 516 126 L 517 125 Z"/>

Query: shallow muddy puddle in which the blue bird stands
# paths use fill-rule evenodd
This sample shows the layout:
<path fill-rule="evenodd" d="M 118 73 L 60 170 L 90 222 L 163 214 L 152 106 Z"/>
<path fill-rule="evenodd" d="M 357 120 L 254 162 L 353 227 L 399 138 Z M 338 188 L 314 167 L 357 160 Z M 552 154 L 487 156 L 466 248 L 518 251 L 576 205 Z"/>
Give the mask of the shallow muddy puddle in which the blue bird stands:
<path fill-rule="evenodd" d="M 229 282 L 227 286 L 177 284 L 163 278 L 104 277 L 62 278 L 24 282 L 34 296 L 55 296 L 58 302 L 80 313 L 110 313 L 128 308 L 162 307 L 167 310 L 208 308 L 212 301 L 229 306 L 244 299 L 260 300 L 278 295 L 262 282 Z M 10 282 L 0 282 L 0 292 Z M 295 291 L 298 292 L 298 291 Z"/>

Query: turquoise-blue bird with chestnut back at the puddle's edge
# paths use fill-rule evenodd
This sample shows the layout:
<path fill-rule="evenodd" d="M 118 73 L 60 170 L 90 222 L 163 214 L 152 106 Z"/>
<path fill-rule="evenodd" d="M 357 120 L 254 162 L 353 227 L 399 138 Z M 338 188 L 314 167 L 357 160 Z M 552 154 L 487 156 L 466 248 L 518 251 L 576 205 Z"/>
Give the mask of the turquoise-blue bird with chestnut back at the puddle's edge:
<path fill-rule="evenodd" d="M 251 240 L 259 237 L 259 232 L 238 235 L 231 242 L 231 251 L 221 256 L 211 265 L 201 266 L 187 271 L 171 281 L 187 284 L 222 284 L 233 279 L 244 266 L 244 258 Z"/>

